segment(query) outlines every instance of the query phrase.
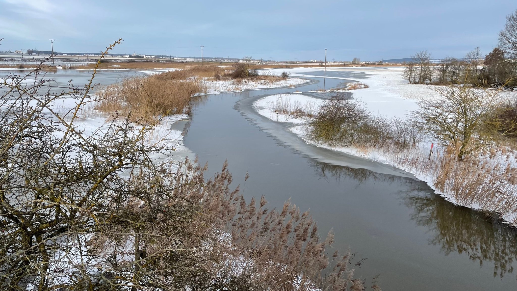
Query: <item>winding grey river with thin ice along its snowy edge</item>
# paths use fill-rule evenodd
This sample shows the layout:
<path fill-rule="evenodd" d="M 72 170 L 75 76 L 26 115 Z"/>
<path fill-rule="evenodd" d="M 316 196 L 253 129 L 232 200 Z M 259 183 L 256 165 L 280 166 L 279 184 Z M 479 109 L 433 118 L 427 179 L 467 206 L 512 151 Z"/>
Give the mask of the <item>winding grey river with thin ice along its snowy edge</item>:
<path fill-rule="evenodd" d="M 332 70 L 327 75 L 363 78 Z M 308 145 L 288 131 L 290 125 L 251 108 L 267 95 L 322 87 L 321 78 L 310 79 L 297 88 L 201 98 L 185 124 L 185 145 L 208 162 L 209 173 L 227 159 L 248 201 L 266 195 L 272 208 L 291 198 L 302 211 L 310 209 L 322 236 L 333 229 L 336 248 L 367 258 L 356 272 L 367 284 L 379 274 L 384 290 L 517 289 L 514 229 L 450 204 L 391 166 Z M 327 78 L 326 87 L 340 82 Z"/>

